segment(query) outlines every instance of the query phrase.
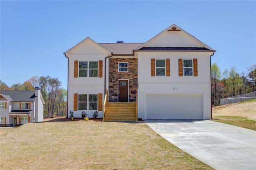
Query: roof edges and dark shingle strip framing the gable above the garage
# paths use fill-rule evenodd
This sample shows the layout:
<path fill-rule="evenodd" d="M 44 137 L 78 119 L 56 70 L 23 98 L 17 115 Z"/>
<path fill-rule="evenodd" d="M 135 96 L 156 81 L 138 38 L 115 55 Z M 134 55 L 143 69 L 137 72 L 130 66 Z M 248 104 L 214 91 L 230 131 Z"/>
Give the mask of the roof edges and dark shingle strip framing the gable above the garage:
<path fill-rule="evenodd" d="M 198 40 L 197 38 L 195 38 L 194 36 L 192 36 L 188 32 L 186 32 L 182 28 L 178 27 L 176 24 L 172 24 L 171 26 L 169 26 L 168 28 L 166 28 L 165 30 L 163 30 L 162 32 L 160 32 L 159 34 L 157 34 L 156 36 L 154 36 L 153 38 L 151 38 L 150 40 L 148 40 L 147 42 L 145 42 L 144 44 L 142 44 L 141 46 L 136 48 L 135 50 L 145 50 L 146 48 L 144 48 L 144 47 L 147 44 L 149 44 L 150 42 L 154 41 L 158 36 L 166 33 L 167 31 L 180 31 L 180 32 L 183 32 L 184 34 L 186 34 L 187 36 L 192 38 L 196 43 L 200 44 L 203 48 L 205 48 L 205 49 L 193 49 L 192 47 L 187 47 L 187 48 L 192 48 L 190 50 L 209 50 L 209 51 L 215 52 L 215 50 L 213 50 L 212 48 L 210 48 L 209 46 L 207 46 L 206 44 L 204 44 L 203 42 L 201 42 L 200 40 Z M 152 47 L 152 48 L 157 48 L 157 47 Z M 172 47 L 172 48 L 174 48 L 174 47 Z M 175 50 L 188 50 L 188 49 L 186 49 L 184 47 L 180 47 L 180 48 L 181 49 L 175 49 Z M 157 50 L 162 50 L 162 49 L 157 49 Z M 164 50 L 166 50 L 166 49 L 164 49 Z M 174 49 L 168 49 L 168 50 L 174 50 Z"/>

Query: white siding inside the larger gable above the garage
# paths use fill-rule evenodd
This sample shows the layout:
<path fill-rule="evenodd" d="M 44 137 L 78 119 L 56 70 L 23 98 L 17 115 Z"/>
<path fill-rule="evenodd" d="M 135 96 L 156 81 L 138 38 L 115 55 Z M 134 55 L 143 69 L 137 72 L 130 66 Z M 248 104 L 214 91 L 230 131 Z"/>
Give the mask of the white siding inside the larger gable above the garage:
<path fill-rule="evenodd" d="M 166 31 L 154 37 L 145 47 L 203 47 L 181 31 Z"/>

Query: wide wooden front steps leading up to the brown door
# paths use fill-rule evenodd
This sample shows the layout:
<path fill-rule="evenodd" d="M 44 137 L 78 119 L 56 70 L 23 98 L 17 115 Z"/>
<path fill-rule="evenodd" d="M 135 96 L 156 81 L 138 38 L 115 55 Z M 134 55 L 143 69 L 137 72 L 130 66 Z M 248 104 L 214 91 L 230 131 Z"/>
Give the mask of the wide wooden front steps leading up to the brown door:
<path fill-rule="evenodd" d="M 136 102 L 108 102 L 104 117 L 106 122 L 136 122 Z"/>

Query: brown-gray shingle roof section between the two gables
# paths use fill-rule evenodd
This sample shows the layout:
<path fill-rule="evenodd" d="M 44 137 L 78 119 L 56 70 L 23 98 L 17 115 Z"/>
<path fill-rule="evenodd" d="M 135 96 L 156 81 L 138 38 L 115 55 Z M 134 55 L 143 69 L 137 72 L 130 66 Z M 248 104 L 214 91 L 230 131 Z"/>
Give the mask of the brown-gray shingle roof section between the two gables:
<path fill-rule="evenodd" d="M 135 50 L 144 43 L 98 43 L 113 54 L 133 54 Z"/>

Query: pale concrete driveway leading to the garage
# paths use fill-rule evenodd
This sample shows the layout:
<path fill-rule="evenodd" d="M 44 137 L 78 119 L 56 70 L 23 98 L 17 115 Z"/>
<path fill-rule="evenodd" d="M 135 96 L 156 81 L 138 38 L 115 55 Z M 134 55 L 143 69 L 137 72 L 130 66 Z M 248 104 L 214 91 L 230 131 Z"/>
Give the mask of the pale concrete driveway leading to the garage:
<path fill-rule="evenodd" d="M 166 140 L 217 170 L 256 170 L 256 131 L 209 120 L 146 120 Z"/>

